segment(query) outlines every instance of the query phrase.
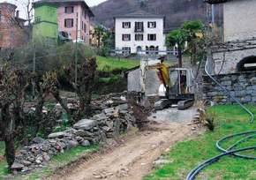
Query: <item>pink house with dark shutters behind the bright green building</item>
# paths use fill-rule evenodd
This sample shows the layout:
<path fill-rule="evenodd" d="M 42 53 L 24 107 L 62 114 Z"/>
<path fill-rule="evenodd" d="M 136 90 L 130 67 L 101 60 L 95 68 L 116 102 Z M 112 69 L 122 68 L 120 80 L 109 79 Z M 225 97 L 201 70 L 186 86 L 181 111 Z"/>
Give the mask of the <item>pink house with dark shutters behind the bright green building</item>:
<path fill-rule="evenodd" d="M 94 17 L 93 11 L 84 0 L 42 0 L 41 2 L 53 3 L 58 6 L 58 30 L 68 32 L 72 40 L 90 42 L 90 18 Z M 76 28 L 76 25 L 77 28 Z"/>

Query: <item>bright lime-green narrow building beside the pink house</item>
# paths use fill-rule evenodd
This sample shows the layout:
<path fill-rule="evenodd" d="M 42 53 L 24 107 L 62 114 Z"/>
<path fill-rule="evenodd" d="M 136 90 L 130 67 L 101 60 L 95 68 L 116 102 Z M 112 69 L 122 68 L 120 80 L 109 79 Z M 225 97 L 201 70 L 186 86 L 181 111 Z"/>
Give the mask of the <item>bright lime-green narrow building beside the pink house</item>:
<path fill-rule="evenodd" d="M 45 38 L 49 44 L 54 44 L 58 38 L 56 4 L 37 3 L 34 4 L 34 26 L 33 39 Z"/>

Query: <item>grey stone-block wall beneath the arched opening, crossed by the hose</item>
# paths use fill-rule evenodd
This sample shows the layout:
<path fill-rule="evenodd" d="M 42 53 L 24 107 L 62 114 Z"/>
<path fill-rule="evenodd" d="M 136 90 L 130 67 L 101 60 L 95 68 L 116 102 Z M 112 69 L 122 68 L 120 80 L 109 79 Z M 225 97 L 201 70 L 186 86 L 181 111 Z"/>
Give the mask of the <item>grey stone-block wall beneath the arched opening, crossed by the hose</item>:
<path fill-rule="evenodd" d="M 244 104 L 256 104 L 255 71 L 220 74 L 214 76 L 237 101 Z M 203 76 L 203 100 L 217 104 L 232 104 L 234 100 L 208 76 Z"/>

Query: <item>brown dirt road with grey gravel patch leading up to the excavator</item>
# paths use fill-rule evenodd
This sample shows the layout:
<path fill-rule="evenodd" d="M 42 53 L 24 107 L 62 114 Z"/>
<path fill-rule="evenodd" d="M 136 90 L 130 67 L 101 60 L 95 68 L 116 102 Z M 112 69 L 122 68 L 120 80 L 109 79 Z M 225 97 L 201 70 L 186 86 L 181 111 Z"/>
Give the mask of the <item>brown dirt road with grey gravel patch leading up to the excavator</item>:
<path fill-rule="evenodd" d="M 118 146 L 107 153 L 95 154 L 91 159 L 80 163 L 69 173 L 51 179 L 64 180 L 139 180 L 152 170 L 152 163 L 161 154 L 184 139 L 191 131 L 187 124 L 196 114 L 196 108 L 186 110 L 174 108 L 157 111 L 148 117 L 148 124 L 139 131 L 131 130 L 119 140 Z M 117 144 L 109 140 L 109 145 Z M 71 172 L 71 173 L 70 173 Z"/>

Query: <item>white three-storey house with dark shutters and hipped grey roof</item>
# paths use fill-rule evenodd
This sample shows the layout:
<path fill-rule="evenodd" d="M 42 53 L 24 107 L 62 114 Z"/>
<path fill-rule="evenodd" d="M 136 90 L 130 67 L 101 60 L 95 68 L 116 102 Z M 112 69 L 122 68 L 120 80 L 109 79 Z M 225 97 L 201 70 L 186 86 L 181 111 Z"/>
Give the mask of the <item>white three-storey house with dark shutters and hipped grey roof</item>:
<path fill-rule="evenodd" d="M 166 54 L 164 16 L 147 11 L 134 11 L 114 19 L 116 52 Z"/>

